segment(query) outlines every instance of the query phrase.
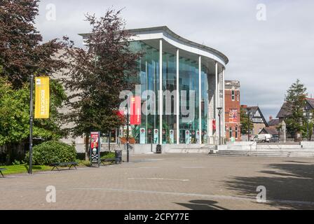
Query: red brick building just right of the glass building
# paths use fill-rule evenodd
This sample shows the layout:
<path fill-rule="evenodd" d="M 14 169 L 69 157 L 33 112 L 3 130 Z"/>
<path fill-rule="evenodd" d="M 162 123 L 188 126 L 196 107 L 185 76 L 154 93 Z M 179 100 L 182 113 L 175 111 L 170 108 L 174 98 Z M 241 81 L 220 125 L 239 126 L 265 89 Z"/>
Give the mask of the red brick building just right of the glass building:
<path fill-rule="evenodd" d="M 225 120 L 227 141 L 241 141 L 240 130 L 240 82 L 225 81 Z"/>

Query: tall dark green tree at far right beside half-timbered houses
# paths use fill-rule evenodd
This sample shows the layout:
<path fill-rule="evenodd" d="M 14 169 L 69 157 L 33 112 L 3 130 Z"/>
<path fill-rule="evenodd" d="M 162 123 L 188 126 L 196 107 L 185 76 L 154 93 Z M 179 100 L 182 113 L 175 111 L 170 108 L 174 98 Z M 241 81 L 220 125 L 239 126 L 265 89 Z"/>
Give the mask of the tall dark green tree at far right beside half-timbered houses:
<path fill-rule="evenodd" d="M 306 133 L 306 118 L 303 116 L 303 109 L 306 106 L 306 96 L 306 87 L 300 83 L 299 79 L 287 90 L 285 98 L 289 116 L 285 118 L 285 123 L 287 124 L 287 131 L 290 134 L 295 135 L 296 132 Z"/>

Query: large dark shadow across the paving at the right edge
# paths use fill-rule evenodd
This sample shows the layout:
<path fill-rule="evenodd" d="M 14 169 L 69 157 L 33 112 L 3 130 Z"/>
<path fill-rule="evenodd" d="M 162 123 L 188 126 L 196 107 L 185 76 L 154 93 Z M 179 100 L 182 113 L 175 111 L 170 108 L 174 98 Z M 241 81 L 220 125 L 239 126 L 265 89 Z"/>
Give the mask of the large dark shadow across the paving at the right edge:
<path fill-rule="evenodd" d="M 289 161 L 293 162 L 293 161 Z M 314 209 L 314 165 L 294 162 L 271 164 L 262 176 L 235 176 L 226 181 L 236 195 L 257 197 L 257 187 L 266 187 L 267 204 L 279 209 Z M 268 175 L 265 175 L 268 174 Z"/>

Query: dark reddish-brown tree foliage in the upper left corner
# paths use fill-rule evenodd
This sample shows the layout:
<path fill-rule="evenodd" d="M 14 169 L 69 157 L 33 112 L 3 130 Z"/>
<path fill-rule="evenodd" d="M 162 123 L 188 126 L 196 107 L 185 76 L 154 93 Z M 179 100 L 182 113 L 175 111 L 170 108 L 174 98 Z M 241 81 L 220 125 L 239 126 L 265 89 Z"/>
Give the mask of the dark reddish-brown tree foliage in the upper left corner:
<path fill-rule="evenodd" d="M 35 71 L 50 76 L 66 65 L 62 55 L 54 57 L 67 46 L 65 42 L 53 39 L 41 44 L 43 38 L 34 27 L 38 3 L 38 0 L 0 1 L 1 76 L 13 83 L 14 88 L 22 87 Z"/>

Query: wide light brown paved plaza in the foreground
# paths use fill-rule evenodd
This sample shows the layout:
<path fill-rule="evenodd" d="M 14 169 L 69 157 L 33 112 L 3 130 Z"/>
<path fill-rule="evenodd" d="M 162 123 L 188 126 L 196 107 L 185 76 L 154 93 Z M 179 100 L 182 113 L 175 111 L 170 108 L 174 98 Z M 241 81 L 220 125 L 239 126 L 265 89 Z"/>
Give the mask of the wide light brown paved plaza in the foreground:
<path fill-rule="evenodd" d="M 0 209 L 314 209 L 314 159 L 132 155 L 129 164 L 6 176 L 0 190 Z"/>

